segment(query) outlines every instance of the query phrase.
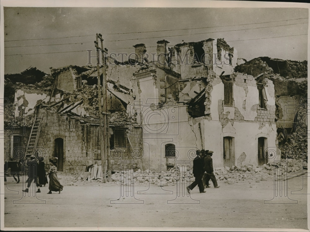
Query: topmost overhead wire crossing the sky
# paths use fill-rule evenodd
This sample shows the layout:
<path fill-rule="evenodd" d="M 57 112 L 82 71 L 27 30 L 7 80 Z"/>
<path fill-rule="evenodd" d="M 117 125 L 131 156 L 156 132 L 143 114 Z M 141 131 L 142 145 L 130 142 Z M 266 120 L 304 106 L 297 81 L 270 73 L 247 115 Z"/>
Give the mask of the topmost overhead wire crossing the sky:
<path fill-rule="evenodd" d="M 236 24 L 236 25 L 226 25 L 226 26 L 223 25 L 223 26 L 187 28 L 187 29 L 171 29 L 171 30 L 157 30 L 157 31 L 125 32 L 125 33 L 107 33 L 107 34 L 104 34 L 104 35 L 118 35 L 118 34 L 131 34 L 131 33 L 150 33 L 150 32 L 177 31 L 177 30 L 191 30 L 191 29 L 207 29 L 207 28 L 216 28 L 216 27 L 232 27 L 232 26 L 244 26 L 244 25 L 255 25 L 255 24 L 263 24 L 263 23 L 274 23 L 274 22 L 282 22 L 282 21 L 300 20 L 300 19 L 308 19 L 308 18 L 297 18 L 297 19 L 267 21 L 267 22 L 260 22 L 260 23 Z M 21 40 L 5 40 L 4 42 L 27 41 L 27 40 L 42 40 L 42 39 L 63 39 L 63 38 L 86 37 L 86 36 L 94 36 L 94 35 L 79 35 L 79 36 L 66 36 L 66 37 L 55 37 L 55 38 L 36 38 L 36 39 L 21 39 Z"/>

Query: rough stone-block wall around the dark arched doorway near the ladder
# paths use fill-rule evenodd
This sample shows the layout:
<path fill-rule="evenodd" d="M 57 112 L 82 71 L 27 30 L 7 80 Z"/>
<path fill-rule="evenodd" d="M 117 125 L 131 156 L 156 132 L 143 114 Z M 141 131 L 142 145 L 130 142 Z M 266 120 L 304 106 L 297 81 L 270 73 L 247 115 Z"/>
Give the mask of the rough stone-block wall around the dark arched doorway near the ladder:
<path fill-rule="evenodd" d="M 81 123 L 79 120 L 50 110 L 40 109 L 39 112 L 43 118 L 38 146 L 46 150 L 45 160 L 54 156 L 55 139 L 62 138 L 64 140 L 64 172 L 77 173 L 85 170 L 86 166 L 91 164 L 101 164 L 98 125 Z M 141 129 L 131 127 L 128 133 L 134 135 L 131 141 L 129 142 L 126 136 L 125 147 L 115 148 L 121 151 L 122 159 L 130 159 L 132 153 L 131 144 L 134 147 L 139 147 L 138 139 L 134 138 L 141 138 Z M 119 170 L 120 159 L 113 156 L 113 152 L 111 150 L 112 169 Z"/>

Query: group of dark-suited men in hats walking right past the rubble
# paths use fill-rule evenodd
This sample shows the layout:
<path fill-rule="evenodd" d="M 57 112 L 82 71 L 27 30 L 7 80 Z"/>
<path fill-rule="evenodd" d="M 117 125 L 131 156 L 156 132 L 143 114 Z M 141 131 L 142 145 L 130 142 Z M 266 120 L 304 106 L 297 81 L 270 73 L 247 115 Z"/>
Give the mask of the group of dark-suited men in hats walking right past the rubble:
<path fill-rule="evenodd" d="M 193 175 L 195 181 L 187 187 L 188 193 L 190 193 L 190 190 L 193 190 L 196 185 L 198 185 L 200 193 L 205 193 L 205 188 L 210 188 L 210 180 L 212 181 L 214 188 L 219 188 L 213 173 L 212 154 L 213 151 L 204 149 L 196 151 L 196 157 L 193 160 Z"/>

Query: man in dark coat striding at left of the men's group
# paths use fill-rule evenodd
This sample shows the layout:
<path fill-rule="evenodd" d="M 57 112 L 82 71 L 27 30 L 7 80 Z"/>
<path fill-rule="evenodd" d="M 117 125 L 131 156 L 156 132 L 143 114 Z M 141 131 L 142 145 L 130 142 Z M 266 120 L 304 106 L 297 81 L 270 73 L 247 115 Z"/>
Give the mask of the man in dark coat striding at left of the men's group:
<path fill-rule="evenodd" d="M 193 174 L 195 177 L 195 181 L 191 185 L 186 187 L 187 192 L 190 193 L 189 190 L 193 190 L 193 188 L 195 188 L 196 185 L 198 185 L 200 193 L 205 193 L 206 191 L 204 191 L 201 180 L 203 174 L 203 165 L 202 160 L 199 156 L 199 150 L 196 151 L 196 157 L 193 160 Z"/>

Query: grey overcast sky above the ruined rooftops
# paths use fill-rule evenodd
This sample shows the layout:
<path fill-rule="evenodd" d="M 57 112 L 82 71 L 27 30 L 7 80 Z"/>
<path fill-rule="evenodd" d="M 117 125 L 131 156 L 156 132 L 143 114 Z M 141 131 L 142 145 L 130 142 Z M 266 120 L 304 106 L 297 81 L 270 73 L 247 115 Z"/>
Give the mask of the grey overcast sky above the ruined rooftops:
<path fill-rule="evenodd" d="M 4 7 L 4 73 L 29 66 L 50 73 L 49 67 L 86 65 L 86 49 L 94 49 L 96 33 L 103 35 L 109 53 L 134 52 L 137 43 L 156 52 L 162 39 L 173 46 L 182 40 L 224 38 L 239 58 L 302 61 L 308 56 L 308 9 Z M 39 54 L 21 55 L 33 53 Z"/>

